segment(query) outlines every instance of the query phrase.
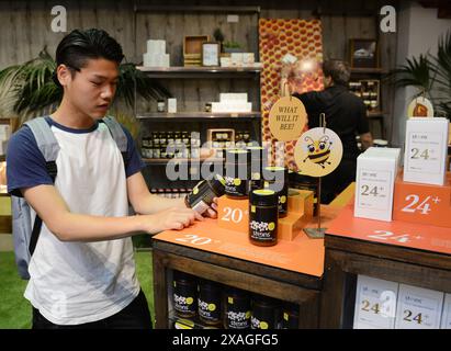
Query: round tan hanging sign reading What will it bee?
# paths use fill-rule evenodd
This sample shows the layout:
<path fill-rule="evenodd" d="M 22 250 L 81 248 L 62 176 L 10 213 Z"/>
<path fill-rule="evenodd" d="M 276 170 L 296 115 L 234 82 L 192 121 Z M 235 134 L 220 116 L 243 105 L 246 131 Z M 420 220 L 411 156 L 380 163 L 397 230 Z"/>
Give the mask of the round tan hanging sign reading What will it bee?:
<path fill-rule="evenodd" d="M 307 113 L 300 99 L 285 97 L 279 99 L 269 113 L 269 128 L 279 141 L 295 140 L 302 134 Z"/>

